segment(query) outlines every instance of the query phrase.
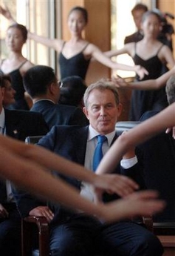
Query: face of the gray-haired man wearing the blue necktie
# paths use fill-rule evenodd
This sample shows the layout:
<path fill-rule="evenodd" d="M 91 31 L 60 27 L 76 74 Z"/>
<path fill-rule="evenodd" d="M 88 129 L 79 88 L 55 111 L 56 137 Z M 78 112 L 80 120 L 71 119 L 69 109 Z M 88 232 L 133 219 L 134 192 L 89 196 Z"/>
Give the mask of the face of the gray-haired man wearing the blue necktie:
<path fill-rule="evenodd" d="M 90 125 L 100 134 L 109 134 L 114 131 L 122 106 L 115 102 L 114 94 L 106 89 L 94 89 L 89 94 L 88 106 L 83 108 Z"/>

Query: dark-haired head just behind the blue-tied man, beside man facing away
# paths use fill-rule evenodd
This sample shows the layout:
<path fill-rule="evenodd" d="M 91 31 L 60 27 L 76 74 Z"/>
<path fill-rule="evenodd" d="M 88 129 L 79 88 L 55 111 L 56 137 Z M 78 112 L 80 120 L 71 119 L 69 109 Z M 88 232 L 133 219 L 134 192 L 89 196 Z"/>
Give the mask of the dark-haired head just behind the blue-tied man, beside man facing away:
<path fill-rule="evenodd" d="M 86 84 L 80 76 L 68 76 L 61 80 L 59 103 L 83 108 Z"/>

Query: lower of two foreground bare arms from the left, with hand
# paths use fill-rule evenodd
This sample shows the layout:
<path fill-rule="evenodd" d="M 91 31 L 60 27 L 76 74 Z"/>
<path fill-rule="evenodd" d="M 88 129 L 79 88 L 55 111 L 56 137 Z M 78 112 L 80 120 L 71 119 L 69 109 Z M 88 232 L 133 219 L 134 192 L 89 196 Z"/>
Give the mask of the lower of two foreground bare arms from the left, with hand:
<path fill-rule="evenodd" d="M 142 194 L 132 194 L 126 200 L 119 200 L 114 203 L 95 205 L 89 202 L 89 200 L 80 197 L 79 192 L 75 188 L 52 177 L 43 166 L 38 165 L 38 163 L 30 160 L 30 158 L 29 160 L 22 158 L 20 152 L 22 154 L 21 150 L 27 148 L 27 145 L 3 136 L 0 136 L 0 140 L 1 174 L 7 179 L 12 180 L 16 185 L 23 186 L 32 193 L 35 192 L 42 197 L 63 203 L 73 209 L 81 209 L 86 214 L 93 214 L 106 221 L 142 215 L 143 205 L 146 209 L 144 209 L 144 214 L 153 214 L 164 208 L 164 202 L 157 200 L 157 194 L 151 191 L 145 191 Z M 14 141 L 15 143 L 13 143 Z M 10 146 L 11 144 L 13 144 L 12 147 Z M 24 145 L 24 148 L 21 145 Z M 32 145 L 29 148 L 37 147 Z M 40 155 L 40 157 L 45 157 L 45 155 Z M 52 160 L 50 162 L 52 163 Z"/>

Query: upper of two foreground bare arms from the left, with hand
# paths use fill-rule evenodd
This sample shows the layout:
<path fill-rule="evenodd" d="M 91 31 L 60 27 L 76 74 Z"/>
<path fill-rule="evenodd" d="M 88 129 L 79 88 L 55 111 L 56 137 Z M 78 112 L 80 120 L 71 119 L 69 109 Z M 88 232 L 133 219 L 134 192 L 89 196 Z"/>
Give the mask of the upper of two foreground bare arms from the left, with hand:
<path fill-rule="evenodd" d="M 120 177 L 116 174 L 111 175 L 96 175 L 92 171 L 83 168 L 82 165 L 72 163 L 58 154 L 53 154 L 45 148 L 37 145 L 25 145 L 22 142 L 16 142 L 9 137 L 0 137 L 1 145 L 7 150 L 16 152 L 17 155 L 26 160 L 33 160 L 44 168 L 55 170 L 67 176 L 75 177 L 78 180 L 84 180 L 91 183 L 97 188 L 111 189 L 114 193 L 120 196 L 126 196 L 138 188 L 137 183 L 133 180 Z"/>

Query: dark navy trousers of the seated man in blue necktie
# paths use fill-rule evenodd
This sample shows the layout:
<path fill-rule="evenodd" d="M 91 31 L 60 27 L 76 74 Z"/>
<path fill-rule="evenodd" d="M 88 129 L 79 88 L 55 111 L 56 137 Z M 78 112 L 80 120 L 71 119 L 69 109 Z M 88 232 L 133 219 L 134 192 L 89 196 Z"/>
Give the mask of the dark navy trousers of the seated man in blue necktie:
<path fill-rule="evenodd" d="M 132 222 L 104 225 L 91 217 L 72 217 L 50 232 L 52 256 L 160 256 L 162 245 Z"/>

